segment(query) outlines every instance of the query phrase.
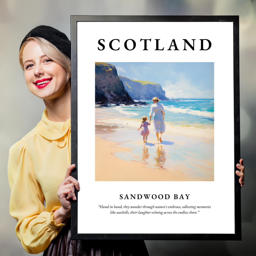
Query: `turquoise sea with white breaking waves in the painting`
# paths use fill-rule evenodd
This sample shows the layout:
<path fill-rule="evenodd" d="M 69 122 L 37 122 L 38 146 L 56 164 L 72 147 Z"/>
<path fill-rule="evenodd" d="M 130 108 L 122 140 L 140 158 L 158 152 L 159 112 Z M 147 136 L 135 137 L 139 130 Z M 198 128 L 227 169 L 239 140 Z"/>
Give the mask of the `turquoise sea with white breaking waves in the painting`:
<path fill-rule="evenodd" d="M 143 100 L 141 100 L 143 101 Z M 135 102 L 138 102 L 135 100 Z M 150 105 L 152 101 L 146 101 Z M 189 125 L 214 125 L 214 99 L 172 99 L 160 101 L 166 111 L 164 121 L 173 125 L 181 123 Z M 107 106 L 95 105 L 97 108 L 108 108 L 114 115 L 120 114 L 131 118 L 147 116 L 149 119 L 150 105 L 129 105 L 110 104 Z M 139 118 L 140 119 L 140 118 Z"/>

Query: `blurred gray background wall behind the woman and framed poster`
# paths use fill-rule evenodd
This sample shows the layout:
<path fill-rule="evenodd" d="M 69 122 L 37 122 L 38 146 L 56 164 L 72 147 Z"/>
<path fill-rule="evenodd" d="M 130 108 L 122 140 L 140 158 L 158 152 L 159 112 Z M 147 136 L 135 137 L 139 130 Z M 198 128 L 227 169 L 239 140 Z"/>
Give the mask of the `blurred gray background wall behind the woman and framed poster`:
<path fill-rule="evenodd" d="M 8 211 L 8 149 L 35 127 L 45 108 L 26 87 L 18 63 L 19 46 L 28 31 L 38 25 L 55 27 L 70 38 L 70 15 L 240 15 L 241 157 L 246 166 L 241 198 L 242 241 L 146 241 L 146 246 L 150 256 L 256 255 L 255 13 L 254 0 L 1 0 L 0 255 L 27 255 L 15 235 L 16 221 Z M 221 166 L 215 168 L 221 170 Z"/>

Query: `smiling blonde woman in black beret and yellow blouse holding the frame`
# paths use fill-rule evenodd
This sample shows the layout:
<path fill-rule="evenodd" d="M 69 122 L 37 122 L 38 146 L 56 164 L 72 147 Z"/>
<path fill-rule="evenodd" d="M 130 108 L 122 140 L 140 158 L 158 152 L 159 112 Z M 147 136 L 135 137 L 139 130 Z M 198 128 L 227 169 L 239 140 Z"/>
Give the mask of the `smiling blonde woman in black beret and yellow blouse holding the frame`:
<path fill-rule="evenodd" d="M 46 109 L 9 151 L 10 215 L 17 220 L 17 237 L 33 254 L 148 255 L 143 240 L 70 240 L 70 201 L 80 189 L 70 165 L 70 57 L 70 40 L 49 26 L 32 29 L 20 46 L 27 87 Z"/>

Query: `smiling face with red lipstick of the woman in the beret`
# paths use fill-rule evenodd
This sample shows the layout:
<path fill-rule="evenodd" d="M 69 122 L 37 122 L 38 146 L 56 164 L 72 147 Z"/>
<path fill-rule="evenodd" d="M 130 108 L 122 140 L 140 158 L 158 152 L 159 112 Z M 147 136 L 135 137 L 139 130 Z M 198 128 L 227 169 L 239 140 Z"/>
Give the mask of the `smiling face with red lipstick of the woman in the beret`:
<path fill-rule="evenodd" d="M 24 47 L 22 62 L 27 87 L 37 97 L 48 100 L 58 98 L 70 86 L 66 70 L 48 58 L 34 40 Z"/>

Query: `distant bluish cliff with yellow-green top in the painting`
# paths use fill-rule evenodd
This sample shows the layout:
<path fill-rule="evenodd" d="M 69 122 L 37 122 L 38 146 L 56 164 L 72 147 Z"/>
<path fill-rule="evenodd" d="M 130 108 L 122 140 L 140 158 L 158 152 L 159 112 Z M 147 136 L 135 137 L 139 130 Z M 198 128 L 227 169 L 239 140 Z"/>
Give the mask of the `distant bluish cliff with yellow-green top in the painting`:
<path fill-rule="evenodd" d="M 159 83 L 119 77 L 124 84 L 125 90 L 134 100 L 152 100 L 153 97 L 157 97 L 160 100 L 169 100 L 165 97 L 165 91 Z"/>

